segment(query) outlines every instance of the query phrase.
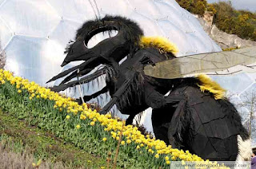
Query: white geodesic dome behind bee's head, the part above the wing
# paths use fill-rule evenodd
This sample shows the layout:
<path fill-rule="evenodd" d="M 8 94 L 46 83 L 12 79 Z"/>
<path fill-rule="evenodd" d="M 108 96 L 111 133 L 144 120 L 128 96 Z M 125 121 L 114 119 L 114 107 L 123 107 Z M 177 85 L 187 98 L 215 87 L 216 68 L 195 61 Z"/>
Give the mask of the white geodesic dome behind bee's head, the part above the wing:
<path fill-rule="evenodd" d="M 61 71 L 64 49 L 76 30 L 106 14 L 133 19 L 146 36 L 168 37 L 178 45 L 178 56 L 220 50 L 197 19 L 174 0 L 0 0 L 6 69 L 46 85 Z"/>

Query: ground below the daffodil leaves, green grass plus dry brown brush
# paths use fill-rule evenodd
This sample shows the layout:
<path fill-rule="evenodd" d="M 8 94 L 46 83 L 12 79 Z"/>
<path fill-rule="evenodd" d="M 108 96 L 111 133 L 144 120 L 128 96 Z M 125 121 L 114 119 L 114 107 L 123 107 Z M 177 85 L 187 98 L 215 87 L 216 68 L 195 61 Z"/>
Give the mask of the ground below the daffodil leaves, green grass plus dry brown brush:
<path fill-rule="evenodd" d="M 42 161 L 42 163 L 40 163 Z M 40 164 L 39 164 L 39 163 Z M 104 168 L 106 159 L 18 120 L 0 110 L 0 163 L 3 168 Z"/>

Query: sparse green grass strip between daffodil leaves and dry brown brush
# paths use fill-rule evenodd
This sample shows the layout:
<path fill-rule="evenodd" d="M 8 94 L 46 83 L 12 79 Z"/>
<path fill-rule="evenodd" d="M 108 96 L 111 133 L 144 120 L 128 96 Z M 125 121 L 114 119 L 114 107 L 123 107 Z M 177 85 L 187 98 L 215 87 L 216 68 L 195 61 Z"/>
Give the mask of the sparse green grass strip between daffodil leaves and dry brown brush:
<path fill-rule="evenodd" d="M 10 144 L 10 151 L 20 153 L 26 149 L 38 159 L 49 160 L 51 163 L 63 163 L 66 167 L 100 168 L 106 167 L 106 159 L 92 155 L 66 143 L 49 132 L 18 120 L 9 112 L 0 110 L 0 141 Z"/>

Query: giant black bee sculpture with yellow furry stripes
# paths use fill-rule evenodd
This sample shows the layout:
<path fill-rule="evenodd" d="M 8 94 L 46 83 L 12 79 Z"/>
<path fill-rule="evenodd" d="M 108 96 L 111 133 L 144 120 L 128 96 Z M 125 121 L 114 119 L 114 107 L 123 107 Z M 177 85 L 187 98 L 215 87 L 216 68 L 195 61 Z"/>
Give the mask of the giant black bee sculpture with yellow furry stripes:
<path fill-rule="evenodd" d="M 110 30 L 118 34 L 87 48 L 96 33 Z M 203 159 L 249 160 L 250 150 L 240 148 L 242 143 L 250 142 L 248 132 L 234 105 L 224 97 L 225 90 L 206 76 L 186 77 L 190 69 L 192 73 L 204 72 L 202 66 L 197 69 L 190 65 L 196 65 L 199 57 L 178 58 L 176 52 L 175 46 L 162 37 L 144 37 L 142 29 L 127 18 L 106 16 L 89 21 L 78 29 L 76 41 L 67 47 L 62 66 L 71 61 L 84 62 L 53 77 L 50 81 L 66 78 L 52 90 L 63 91 L 106 74 L 106 86 L 80 98 L 80 103 L 110 92 L 111 100 L 102 108 L 102 114 L 116 104 L 120 112 L 130 115 L 126 124 L 131 124 L 134 116 L 151 107 L 157 139 Z M 124 57 L 126 60 L 119 64 Z M 98 65 L 104 67 L 90 73 Z M 184 65 L 187 69 L 181 68 Z M 70 81 L 74 77 L 81 78 Z"/>

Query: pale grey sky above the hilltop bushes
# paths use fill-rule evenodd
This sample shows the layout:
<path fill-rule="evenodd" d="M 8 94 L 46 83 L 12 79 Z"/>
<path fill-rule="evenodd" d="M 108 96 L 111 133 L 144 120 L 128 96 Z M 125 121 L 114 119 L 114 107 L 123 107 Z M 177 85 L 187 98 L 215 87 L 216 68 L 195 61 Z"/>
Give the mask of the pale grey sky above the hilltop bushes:
<path fill-rule="evenodd" d="M 222 0 L 228 2 L 228 0 Z M 232 6 L 237 10 L 250 10 L 256 12 L 256 0 L 230 0 Z M 219 0 L 207 0 L 207 2 L 219 2 Z"/>

